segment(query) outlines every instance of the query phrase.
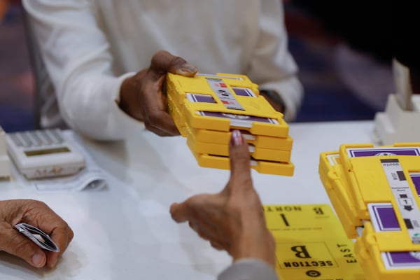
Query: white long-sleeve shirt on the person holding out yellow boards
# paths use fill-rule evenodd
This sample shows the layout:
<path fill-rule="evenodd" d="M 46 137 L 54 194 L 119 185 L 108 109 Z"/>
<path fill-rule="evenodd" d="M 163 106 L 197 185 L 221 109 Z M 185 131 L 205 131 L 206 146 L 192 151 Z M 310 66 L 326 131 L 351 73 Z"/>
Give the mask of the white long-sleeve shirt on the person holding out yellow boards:
<path fill-rule="evenodd" d="M 302 101 L 279 0 L 23 0 L 62 118 L 94 139 L 142 124 L 118 107 L 123 80 L 167 50 L 201 73 L 243 73 L 275 90 L 293 120 Z M 51 93 L 49 93 L 51 94 Z M 54 111 L 53 102 L 44 104 Z M 57 115 L 57 113 L 55 113 Z M 43 126 L 57 123 L 43 111 Z"/>

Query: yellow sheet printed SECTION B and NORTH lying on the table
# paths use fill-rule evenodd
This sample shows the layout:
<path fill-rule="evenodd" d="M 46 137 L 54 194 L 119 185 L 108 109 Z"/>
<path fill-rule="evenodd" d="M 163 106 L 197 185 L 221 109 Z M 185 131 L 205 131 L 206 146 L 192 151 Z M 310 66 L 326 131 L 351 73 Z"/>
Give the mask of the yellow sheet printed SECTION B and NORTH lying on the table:
<path fill-rule="evenodd" d="M 279 279 L 370 280 L 329 204 L 265 205 L 264 214 Z"/>

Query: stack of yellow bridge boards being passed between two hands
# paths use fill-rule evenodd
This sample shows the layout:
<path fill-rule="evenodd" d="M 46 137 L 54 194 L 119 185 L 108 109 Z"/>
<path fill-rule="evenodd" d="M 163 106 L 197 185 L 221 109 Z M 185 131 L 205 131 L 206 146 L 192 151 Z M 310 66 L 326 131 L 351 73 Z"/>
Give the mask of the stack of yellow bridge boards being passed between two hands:
<path fill-rule="evenodd" d="M 257 172 L 293 176 L 288 124 L 247 76 L 172 73 L 166 80 L 169 113 L 202 167 L 230 169 L 232 130 L 241 130 Z"/>

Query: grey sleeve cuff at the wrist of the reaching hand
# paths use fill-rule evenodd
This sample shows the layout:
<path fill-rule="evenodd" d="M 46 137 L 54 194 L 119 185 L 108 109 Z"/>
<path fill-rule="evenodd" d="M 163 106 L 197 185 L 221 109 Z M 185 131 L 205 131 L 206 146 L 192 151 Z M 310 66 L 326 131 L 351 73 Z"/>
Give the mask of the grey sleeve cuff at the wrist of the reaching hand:
<path fill-rule="evenodd" d="M 262 260 L 243 258 L 218 276 L 218 280 L 280 280 L 274 268 Z"/>

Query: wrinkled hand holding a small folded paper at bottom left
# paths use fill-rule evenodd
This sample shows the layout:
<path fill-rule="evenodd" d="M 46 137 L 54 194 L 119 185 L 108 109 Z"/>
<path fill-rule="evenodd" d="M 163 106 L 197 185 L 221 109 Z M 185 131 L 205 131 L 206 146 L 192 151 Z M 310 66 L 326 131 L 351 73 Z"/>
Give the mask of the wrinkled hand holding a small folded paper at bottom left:
<path fill-rule="evenodd" d="M 59 247 L 59 252 L 43 251 L 15 229 L 18 223 L 34 225 Z M 73 239 L 73 231 L 45 203 L 36 200 L 0 201 L 0 251 L 16 255 L 34 267 L 54 267 Z"/>

